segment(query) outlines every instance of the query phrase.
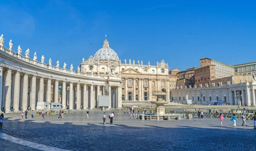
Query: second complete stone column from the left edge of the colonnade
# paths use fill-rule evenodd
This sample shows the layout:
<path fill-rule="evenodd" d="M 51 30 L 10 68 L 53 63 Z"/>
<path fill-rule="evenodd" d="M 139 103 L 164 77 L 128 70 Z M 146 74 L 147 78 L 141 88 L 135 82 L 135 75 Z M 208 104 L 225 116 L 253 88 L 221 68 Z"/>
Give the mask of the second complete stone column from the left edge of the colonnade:
<path fill-rule="evenodd" d="M 13 98 L 13 109 L 15 112 L 19 111 L 20 103 L 20 72 L 15 74 L 15 84 L 14 84 L 14 98 Z"/>

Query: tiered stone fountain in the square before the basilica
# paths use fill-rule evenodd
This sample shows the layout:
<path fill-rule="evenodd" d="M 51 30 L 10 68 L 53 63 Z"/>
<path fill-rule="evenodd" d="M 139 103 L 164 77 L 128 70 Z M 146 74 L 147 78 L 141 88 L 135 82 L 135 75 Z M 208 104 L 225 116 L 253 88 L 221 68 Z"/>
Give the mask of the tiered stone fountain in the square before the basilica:
<path fill-rule="evenodd" d="M 162 96 L 166 95 L 166 92 L 157 91 L 154 92 L 153 95 L 157 96 L 157 101 L 151 101 L 150 103 L 157 105 L 157 113 L 155 115 L 165 115 L 165 108 L 163 107 L 164 104 L 167 104 L 169 102 L 163 101 Z"/>

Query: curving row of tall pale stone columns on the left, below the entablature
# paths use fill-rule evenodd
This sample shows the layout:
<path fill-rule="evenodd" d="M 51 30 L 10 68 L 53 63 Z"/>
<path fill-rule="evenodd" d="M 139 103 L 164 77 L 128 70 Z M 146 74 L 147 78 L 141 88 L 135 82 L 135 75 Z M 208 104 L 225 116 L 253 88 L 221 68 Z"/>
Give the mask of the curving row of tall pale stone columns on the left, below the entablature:
<path fill-rule="evenodd" d="M 108 89 L 110 107 L 122 106 L 122 88 L 109 85 Z M 98 107 L 98 95 L 105 95 L 105 86 L 44 78 L 0 66 L 0 106 L 5 112 L 11 109 L 17 112 L 20 108 L 24 111 L 28 106 L 35 110 L 37 102 L 60 102 L 63 108 L 93 109 Z"/>

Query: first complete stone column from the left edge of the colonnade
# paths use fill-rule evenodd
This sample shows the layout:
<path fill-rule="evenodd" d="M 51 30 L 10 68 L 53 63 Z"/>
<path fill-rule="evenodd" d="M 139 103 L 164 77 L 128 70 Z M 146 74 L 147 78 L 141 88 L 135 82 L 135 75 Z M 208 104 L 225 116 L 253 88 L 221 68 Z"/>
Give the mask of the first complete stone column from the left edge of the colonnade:
<path fill-rule="evenodd" d="M 11 90 L 12 90 L 12 70 L 7 69 L 7 75 L 6 75 L 6 84 L 5 84 L 5 111 L 11 112 L 10 106 L 11 106 Z"/>

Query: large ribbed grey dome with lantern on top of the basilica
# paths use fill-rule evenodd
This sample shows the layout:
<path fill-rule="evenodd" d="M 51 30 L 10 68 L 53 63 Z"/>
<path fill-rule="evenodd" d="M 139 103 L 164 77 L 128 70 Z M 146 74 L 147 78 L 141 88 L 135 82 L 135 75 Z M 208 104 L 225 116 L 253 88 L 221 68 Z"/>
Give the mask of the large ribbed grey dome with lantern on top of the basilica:
<path fill-rule="evenodd" d="M 103 47 L 99 49 L 95 55 L 94 60 L 119 60 L 116 52 L 109 47 L 108 41 L 107 41 L 107 35 L 105 35 L 105 41 L 103 42 Z"/>

